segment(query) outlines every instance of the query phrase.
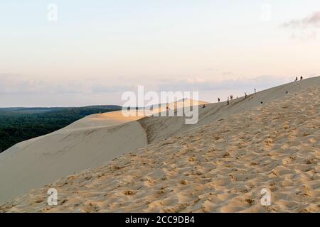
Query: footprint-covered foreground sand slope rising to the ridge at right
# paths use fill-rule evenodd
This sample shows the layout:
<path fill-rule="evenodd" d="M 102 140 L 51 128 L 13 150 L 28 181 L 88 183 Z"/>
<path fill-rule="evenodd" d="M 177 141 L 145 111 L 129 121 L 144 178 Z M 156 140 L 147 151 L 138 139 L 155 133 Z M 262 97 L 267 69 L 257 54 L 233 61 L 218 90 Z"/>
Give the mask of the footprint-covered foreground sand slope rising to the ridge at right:
<path fill-rule="evenodd" d="M 145 118 L 149 134 L 172 126 L 173 135 L 149 135 L 144 148 L 33 189 L 0 211 L 319 212 L 319 96 L 316 77 L 210 104 L 196 126 Z M 58 206 L 46 204 L 52 187 Z M 262 189 L 271 206 L 260 204 Z"/>

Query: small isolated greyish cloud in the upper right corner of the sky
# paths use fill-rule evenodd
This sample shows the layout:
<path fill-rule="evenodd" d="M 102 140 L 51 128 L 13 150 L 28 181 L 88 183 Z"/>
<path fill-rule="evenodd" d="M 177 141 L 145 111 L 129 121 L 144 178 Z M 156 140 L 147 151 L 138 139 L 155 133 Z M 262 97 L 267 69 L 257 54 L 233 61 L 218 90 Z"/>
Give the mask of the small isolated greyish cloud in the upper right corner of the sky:
<path fill-rule="evenodd" d="M 301 19 L 294 19 L 286 23 L 282 23 L 282 28 L 320 28 L 320 11 L 311 13 Z"/>

